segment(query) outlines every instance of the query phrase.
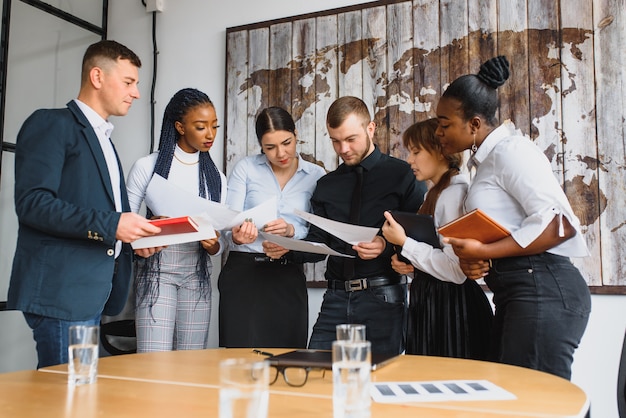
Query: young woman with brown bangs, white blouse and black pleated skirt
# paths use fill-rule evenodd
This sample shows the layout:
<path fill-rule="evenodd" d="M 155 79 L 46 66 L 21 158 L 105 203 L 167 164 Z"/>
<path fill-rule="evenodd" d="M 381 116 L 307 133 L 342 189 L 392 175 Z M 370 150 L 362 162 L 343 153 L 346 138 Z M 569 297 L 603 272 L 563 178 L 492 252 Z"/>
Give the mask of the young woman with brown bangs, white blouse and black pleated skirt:
<path fill-rule="evenodd" d="M 437 227 L 463 214 L 469 187 L 468 176 L 459 172 L 463 156 L 443 154 L 435 135 L 438 125 L 432 118 L 402 134 L 415 177 L 433 184 L 418 213 L 433 216 Z M 410 261 L 404 263 L 394 255 L 391 265 L 400 274 L 413 273 L 406 353 L 487 359 L 493 312 L 485 292 L 474 280 L 466 280 L 450 245 L 434 248 L 415 241 L 389 212 L 385 217 L 385 239 L 402 247 L 401 255 Z"/>

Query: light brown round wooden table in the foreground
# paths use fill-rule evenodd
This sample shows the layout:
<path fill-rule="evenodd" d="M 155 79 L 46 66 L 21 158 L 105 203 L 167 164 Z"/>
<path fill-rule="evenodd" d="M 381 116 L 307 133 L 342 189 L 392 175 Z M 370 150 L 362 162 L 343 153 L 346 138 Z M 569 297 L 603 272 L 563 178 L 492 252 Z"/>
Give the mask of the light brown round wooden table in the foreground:
<path fill-rule="evenodd" d="M 278 354 L 285 349 L 264 349 Z M 104 357 L 98 381 L 71 388 L 67 365 L 0 375 L 0 416 L 216 417 L 218 363 L 259 357 L 251 349 L 171 351 Z M 372 417 L 584 417 L 586 394 L 559 377 L 521 367 L 442 357 L 399 356 L 372 372 L 372 382 L 488 380 L 516 399 L 387 404 Z M 269 417 L 332 417 L 332 372 L 311 371 L 306 385 L 270 386 Z"/>

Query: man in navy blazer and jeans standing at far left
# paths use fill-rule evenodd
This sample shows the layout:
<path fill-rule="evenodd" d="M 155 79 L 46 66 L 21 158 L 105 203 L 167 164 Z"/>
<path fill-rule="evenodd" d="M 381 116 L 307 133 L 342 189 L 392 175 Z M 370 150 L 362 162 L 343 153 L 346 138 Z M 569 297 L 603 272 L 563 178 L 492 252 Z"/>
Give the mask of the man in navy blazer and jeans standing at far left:
<path fill-rule="evenodd" d="M 132 276 L 129 243 L 160 231 L 130 212 L 109 139 L 109 116 L 126 115 L 139 98 L 140 66 L 115 41 L 89 46 L 77 100 L 35 111 L 18 133 L 19 231 L 8 307 L 21 310 L 33 330 L 37 367 L 67 362 L 70 325 L 96 325 L 103 313 L 122 310 Z"/>

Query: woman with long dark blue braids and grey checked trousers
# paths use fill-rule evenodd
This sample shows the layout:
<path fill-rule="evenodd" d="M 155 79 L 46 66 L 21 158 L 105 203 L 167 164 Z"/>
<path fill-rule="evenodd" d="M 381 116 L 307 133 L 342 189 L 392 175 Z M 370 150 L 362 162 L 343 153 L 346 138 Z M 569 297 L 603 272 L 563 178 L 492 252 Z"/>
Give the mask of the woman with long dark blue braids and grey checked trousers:
<path fill-rule="evenodd" d="M 219 127 L 215 107 L 203 92 L 178 91 L 165 108 L 158 152 L 130 170 L 128 200 L 138 212 L 153 174 L 214 202 L 225 203 L 226 178 L 211 159 Z M 148 218 L 158 217 L 147 208 Z M 135 271 L 137 351 L 207 347 L 211 316 L 211 255 L 219 238 L 170 245 L 139 259 Z"/>

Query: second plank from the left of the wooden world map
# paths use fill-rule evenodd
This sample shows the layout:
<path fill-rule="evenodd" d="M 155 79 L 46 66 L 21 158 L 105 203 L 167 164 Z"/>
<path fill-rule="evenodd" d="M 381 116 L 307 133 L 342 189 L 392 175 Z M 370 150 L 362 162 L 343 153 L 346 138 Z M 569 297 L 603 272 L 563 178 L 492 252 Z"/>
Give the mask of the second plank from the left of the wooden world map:
<path fill-rule="evenodd" d="M 259 141 L 255 133 L 256 117 L 269 103 L 269 62 L 270 39 L 269 29 L 252 29 L 249 32 L 248 68 L 253 80 L 248 88 L 248 136 L 247 155 L 261 152 Z M 241 138 L 243 141 L 243 138 Z"/>

